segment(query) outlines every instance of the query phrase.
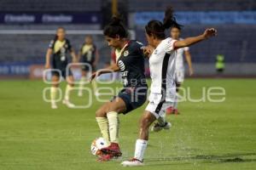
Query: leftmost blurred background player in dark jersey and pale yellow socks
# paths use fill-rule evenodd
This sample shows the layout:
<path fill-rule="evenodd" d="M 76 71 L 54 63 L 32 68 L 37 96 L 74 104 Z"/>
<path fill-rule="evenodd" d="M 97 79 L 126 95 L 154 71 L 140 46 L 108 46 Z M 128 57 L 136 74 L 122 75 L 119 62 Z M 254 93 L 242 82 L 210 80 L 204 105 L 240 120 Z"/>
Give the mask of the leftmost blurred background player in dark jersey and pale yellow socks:
<path fill-rule="evenodd" d="M 70 69 L 66 71 L 67 65 L 71 62 L 71 59 L 69 59 L 69 57 L 67 56 L 68 53 L 71 54 L 71 56 L 73 57 L 73 61 L 75 61 L 76 54 L 74 53 L 69 40 L 66 38 L 66 31 L 64 28 L 59 27 L 57 29 L 55 39 L 49 43 L 45 62 L 46 69 L 54 69 L 53 71 L 51 71 L 53 83 L 52 88 L 50 88 L 52 109 L 57 109 L 55 100 L 60 77 L 66 78 L 67 80 L 67 88 L 62 102 L 68 107 L 74 106 L 69 101 L 69 94 L 73 88 L 73 75 Z"/>

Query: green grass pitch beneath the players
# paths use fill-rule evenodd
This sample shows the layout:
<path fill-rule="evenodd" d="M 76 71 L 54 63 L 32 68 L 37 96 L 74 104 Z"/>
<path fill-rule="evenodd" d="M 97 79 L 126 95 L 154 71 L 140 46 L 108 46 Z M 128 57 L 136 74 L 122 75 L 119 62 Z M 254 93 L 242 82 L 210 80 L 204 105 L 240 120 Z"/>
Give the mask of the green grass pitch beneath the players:
<path fill-rule="evenodd" d="M 127 169 L 120 161 L 133 156 L 138 119 L 145 105 L 120 116 L 122 160 L 96 162 L 90 143 L 100 136 L 95 111 L 51 110 L 42 98 L 48 87 L 39 81 L 0 82 L 0 169 L 101 170 Z M 179 116 L 168 116 L 170 131 L 150 133 L 145 167 L 131 169 L 256 169 L 256 81 L 190 79 L 191 97 L 202 87 L 226 90 L 223 103 L 183 102 Z M 112 85 L 114 87 L 114 85 Z M 62 87 L 63 89 L 64 87 Z M 82 99 L 73 93 L 74 102 Z"/>

